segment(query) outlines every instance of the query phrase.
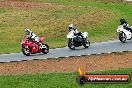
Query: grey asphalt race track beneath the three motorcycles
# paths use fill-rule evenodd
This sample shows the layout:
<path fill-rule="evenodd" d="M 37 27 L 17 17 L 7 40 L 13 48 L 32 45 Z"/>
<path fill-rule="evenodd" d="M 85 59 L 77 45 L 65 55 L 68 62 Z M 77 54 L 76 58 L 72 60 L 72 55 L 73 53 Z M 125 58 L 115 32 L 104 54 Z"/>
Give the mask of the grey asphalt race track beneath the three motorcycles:
<path fill-rule="evenodd" d="M 119 40 L 114 40 L 101 43 L 93 43 L 87 49 L 83 47 L 76 48 L 76 50 L 70 50 L 68 47 L 50 49 L 48 54 L 38 53 L 31 56 L 24 56 L 22 53 L 2 54 L 0 55 L 0 62 L 48 59 L 123 51 L 132 51 L 132 41 L 121 43 Z"/>

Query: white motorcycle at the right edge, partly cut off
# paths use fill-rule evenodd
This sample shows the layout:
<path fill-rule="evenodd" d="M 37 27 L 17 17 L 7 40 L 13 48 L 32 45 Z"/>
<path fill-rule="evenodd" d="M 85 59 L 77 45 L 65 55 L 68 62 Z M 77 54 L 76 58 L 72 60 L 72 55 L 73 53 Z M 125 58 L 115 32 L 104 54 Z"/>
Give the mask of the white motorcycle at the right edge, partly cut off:
<path fill-rule="evenodd" d="M 132 28 L 132 26 L 130 28 Z M 117 32 L 119 33 L 119 40 L 123 43 L 125 43 L 126 40 L 132 39 L 132 33 L 126 30 L 123 25 L 118 26 Z"/>

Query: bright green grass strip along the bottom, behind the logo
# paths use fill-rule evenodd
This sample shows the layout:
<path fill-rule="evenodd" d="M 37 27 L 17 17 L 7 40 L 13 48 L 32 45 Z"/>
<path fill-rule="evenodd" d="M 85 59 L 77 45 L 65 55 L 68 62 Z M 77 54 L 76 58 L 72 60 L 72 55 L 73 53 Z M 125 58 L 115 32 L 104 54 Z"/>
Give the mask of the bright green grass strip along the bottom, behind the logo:
<path fill-rule="evenodd" d="M 89 74 L 130 74 L 132 69 L 120 69 L 111 71 L 97 71 Z M 0 88 L 131 88 L 132 82 L 128 84 L 85 84 L 80 86 L 76 83 L 74 73 L 49 73 L 33 75 L 9 75 L 0 76 Z"/>

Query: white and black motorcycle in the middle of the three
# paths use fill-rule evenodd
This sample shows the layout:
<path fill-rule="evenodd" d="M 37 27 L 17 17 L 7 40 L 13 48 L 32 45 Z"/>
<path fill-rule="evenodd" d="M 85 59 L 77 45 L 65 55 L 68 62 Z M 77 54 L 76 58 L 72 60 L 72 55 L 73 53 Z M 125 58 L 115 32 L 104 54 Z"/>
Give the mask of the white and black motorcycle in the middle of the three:
<path fill-rule="evenodd" d="M 83 32 L 81 33 L 81 36 L 78 36 L 74 34 L 74 31 L 70 31 L 67 35 L 67 38 L 68 38 L 68 47 L 71 50 L 74 50 L 75 47 L 79 47 L 79 46 L 84 46 L 85 48 L 88 48 L 90 46 L 90 42 L 87 39 L 88 38 L 87 32 Z"/>

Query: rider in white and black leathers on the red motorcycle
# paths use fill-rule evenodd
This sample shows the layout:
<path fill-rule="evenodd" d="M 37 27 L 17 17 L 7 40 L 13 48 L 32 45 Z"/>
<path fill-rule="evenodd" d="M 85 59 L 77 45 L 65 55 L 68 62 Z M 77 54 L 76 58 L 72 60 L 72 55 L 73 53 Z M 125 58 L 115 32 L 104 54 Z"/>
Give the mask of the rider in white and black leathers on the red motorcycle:
<path fill-rule="evenodd" d="M 37 45 L 40 46 L 40 42 L 39 42 L 39 37 L 34 34 L 30 29 L 25 29 L 25 34 L 28 36 L 29 40 L 31 40 L 32 42 L 36 41 Z"/>

